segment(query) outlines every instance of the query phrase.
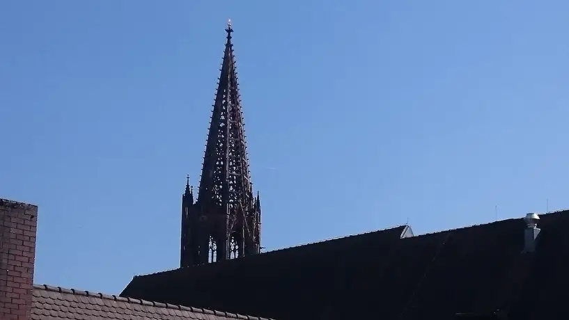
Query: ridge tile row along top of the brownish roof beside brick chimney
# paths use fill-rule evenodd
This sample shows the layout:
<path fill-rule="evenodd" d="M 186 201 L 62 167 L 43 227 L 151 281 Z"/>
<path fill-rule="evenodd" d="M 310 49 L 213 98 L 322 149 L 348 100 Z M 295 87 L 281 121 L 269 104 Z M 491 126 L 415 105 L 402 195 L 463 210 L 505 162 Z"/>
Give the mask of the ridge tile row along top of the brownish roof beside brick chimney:
<path fill-rule="evenodd" d="M 66 289 L 66 288 L 62 288 L 62 287 L 53 287 L 50 285 L 33 285 L 33 289 L 54 291 L 54 292 L 59 292 L 62 294 L 75 294 L 77 296 L 93 296 L 96 298 L 101 298 L 101 299 L 111 300 L 111 301 L 133 303 L 133 304 L 137 304 L 137 305 L 148 305 L 149 307 L 161 307 L 161 308 L 165 308 L 165 309 L 174 309 L 174 310 L 196 312 L 196 313 L 202 313 L 202 314 L 215 314 L 217 316 L 223 316 L 223 317 L 230 318 L 230 319 L 274 320 L 272 318 L 245 316 L 242 314 L 234 314 L 231 312 L 209 310 L 209 309 L 204 309 L 201 307 L 186 307 L 184 305 L 172 305 L 170 303 L 159 303 L 159 302 L 154 302 L 154 301 L 146 301 L 146 300 L 142 300 L 142 299 L 125 298 L 122 296 L 115 296 L 115 295 L 109 296 L 108 294 L 102 294 L 100 292 L 95 293 L 92 291 Z"/>

